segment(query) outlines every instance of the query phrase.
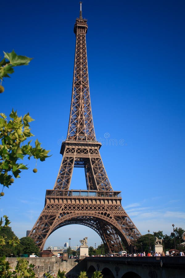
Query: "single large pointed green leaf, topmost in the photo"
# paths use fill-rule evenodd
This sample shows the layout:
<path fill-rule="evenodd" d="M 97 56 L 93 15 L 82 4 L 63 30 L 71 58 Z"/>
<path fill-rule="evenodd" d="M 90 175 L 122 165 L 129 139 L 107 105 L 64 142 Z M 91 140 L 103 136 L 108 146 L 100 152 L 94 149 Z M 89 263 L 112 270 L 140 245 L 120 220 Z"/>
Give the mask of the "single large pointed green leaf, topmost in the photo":
<path fill-rule="evenodd" d="M 21 55 L 17 55 L 14 50 L 12 50 L 12 52 L 10 53 L 6 53 L 4 52 L 4 57 L 6 59 L 8 59 L 10 61 L 10 64 L 12 66 L 19 66 L 19 65 L 28 65 L 29 62 L 33 59 L 33 58 L 29 58 L 27 56 L 21 56 Z"/>

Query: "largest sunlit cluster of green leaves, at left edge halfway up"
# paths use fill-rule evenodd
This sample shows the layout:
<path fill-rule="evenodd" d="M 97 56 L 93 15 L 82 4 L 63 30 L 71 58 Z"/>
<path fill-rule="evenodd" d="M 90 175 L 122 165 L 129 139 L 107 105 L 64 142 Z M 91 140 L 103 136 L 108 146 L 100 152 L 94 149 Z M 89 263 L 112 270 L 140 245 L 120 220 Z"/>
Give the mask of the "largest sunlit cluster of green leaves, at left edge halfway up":
<path fill-rule="evenodd" d="M 29 113 L 22 117 L 12 109 L 10 120 L 5 114 L 0 113 L 0 183 L 9 187 L 15 178 L 20 177 L 22 170 L 26 170 L 27 165 L 20 163 L 24 157 L 44 161 L 48 157 L 48 150 L 41 148 L 41 143 L 36 139 L 35 146 L 31 146 L 31 141 L 24 143 L 27 138 L 32 137 L 29 123 L 33 121 Z"/>

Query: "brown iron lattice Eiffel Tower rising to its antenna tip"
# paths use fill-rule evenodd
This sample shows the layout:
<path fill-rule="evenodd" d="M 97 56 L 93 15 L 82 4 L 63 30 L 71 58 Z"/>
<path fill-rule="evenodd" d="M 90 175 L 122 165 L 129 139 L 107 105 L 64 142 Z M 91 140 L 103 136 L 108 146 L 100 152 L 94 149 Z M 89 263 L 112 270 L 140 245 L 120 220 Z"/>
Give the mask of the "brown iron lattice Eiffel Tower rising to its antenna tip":
<path fill-rule="evenodd" d="M 76 19 L 76 50 L 71 110 L 67 139 L 62 142 L 63 155 L 53 190 L 46 190 L 45 206 L 29 236 L 40 250 L 55 230 L 81 224 L 101 237 L 105 252 L 131 251 L 140 232 L 121 206 L 121 191 L 113 191 L 105 171 L 92 120 L 86 50 L 87 19 Z M 87 190 L 69 190 L 74 167 L 83 167 Z"/>

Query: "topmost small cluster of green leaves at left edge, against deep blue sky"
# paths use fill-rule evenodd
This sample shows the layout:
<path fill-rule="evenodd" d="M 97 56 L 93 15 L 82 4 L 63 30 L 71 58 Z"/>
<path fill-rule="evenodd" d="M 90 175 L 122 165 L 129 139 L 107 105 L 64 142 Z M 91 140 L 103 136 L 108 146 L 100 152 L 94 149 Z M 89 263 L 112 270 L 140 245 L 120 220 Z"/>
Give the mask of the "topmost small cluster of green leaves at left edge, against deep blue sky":
<path fill-rule="evenodd" d="M 0 61 L 0 79 L 10 77 L 9 74 L 14 73 L 13 67 L 20 65 L 28 65 L 32 58 L 17 55 L 14 50 L 10 53 L 4 52 L 4 58 Z"/>

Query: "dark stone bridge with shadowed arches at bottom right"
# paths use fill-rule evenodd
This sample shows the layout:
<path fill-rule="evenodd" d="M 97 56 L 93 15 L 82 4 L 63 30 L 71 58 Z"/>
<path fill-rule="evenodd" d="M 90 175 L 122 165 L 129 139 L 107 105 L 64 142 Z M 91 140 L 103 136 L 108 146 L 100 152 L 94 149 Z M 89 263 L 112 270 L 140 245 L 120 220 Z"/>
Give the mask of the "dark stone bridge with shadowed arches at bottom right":
<path fill-rule="evenodd" d="M 100 270 L 104 278 L 183 278 L 185 257 L 86 257 L 88 276 Z"/>

